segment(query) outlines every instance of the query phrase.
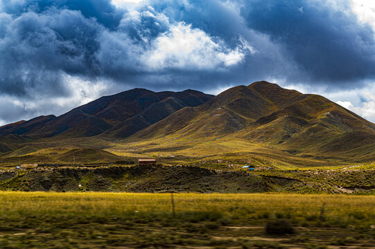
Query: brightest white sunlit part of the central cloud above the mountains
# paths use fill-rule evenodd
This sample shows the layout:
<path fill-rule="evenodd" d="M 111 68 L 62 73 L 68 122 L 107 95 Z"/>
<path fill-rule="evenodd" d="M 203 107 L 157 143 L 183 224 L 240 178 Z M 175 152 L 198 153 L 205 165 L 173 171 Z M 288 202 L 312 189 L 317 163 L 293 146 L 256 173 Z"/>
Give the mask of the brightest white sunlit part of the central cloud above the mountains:
<path fill-rule="evenodd" d="M 215 69 L 243 62 L 246 53 L 254 53 L 247 43 L 227 48 L 221 39 L 214 39 L 198 28 L 182 22 L 171 25 L 159 35 L 143 61 L 152 70 L 161 68 Z"/>

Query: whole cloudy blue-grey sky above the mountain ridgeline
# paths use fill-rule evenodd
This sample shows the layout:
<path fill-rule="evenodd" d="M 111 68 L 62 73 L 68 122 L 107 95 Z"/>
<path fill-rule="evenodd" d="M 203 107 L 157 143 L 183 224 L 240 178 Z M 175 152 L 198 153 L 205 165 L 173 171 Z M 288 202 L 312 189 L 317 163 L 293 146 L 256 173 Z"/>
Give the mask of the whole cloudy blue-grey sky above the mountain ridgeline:
<path fill-rule="evenodd" d="M 375 1 L 0 1 L 0 125 L 136 87 L 258 80 L 375 122 Z"/>

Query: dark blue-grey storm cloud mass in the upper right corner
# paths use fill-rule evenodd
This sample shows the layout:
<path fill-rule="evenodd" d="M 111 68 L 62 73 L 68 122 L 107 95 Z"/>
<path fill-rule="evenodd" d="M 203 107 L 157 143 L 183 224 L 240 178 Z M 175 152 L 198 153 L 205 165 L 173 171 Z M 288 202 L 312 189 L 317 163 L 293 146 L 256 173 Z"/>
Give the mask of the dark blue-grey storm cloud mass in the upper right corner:
<path fill-rule="evenodd" d="M 349 10 L 349 3 L 342 1 Z M 354 13 L 322 1 L 251 1 L 241 14 L 247 26 L 270 35 L 312 80 L 352 82 L 374 77 L 374 30 Z"/>

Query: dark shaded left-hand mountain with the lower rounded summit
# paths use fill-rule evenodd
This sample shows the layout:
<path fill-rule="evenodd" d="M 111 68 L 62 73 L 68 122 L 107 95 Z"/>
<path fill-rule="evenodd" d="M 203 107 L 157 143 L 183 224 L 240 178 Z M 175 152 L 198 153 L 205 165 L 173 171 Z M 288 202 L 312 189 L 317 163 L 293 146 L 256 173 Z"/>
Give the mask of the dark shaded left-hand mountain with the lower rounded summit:
<path fill-rule="evenodd" d="M 99 98 L 57 118 L 42 116 L 8 124 L 0 127 L 0 135 L 63 139 L 96 136 L 108 131 L 107 136 L 123 138 L 166 118 L 174 111 L 198 106 L 212 97 L 193 90 L 155 93 L 146 89 L 132 89 Z"/>

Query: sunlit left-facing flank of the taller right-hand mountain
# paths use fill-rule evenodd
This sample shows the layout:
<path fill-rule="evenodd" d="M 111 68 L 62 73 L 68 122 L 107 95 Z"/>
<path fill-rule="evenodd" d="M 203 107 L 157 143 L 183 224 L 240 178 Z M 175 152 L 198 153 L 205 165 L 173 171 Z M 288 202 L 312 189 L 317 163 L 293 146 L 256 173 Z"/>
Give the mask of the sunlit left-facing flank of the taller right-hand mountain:
<path fill-rule="evenodd" d="M 159 122 L 137 136 L 146 138 L 152 136 L 165 136 L 177 132 L 175 135 L 185 136 L 225 136 L 248 127 L 259 118 L 270 115 L 284 104 L 272 102 L 272 95 L 268 96 L 257 91 L 258 82 L 250 86 L 235 86 L 199 107 L 185 108 L 177 111 L 162 122 Z M 263 82 L 261 85 L 268 87 L 273 84 Z M 281 89 L 281 88 L 280 88 Z M 274 89 L 273 89 L 274 91 Z M 288 95 L 288 91 L 285 95 Z M 272 90 L 268 91 L 272 93 Z M 302 93 L 295 93 L 293 99 L 305 98 Z M 134 136 L 136 138 L 137 136 Z"/>

